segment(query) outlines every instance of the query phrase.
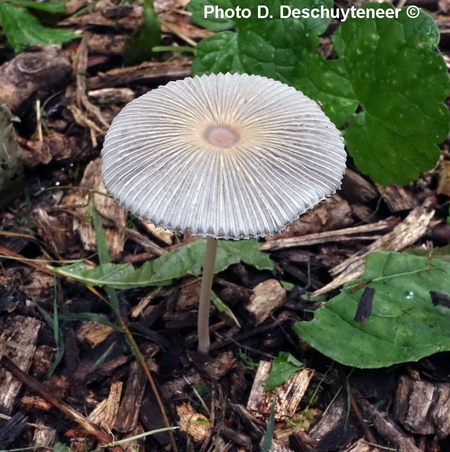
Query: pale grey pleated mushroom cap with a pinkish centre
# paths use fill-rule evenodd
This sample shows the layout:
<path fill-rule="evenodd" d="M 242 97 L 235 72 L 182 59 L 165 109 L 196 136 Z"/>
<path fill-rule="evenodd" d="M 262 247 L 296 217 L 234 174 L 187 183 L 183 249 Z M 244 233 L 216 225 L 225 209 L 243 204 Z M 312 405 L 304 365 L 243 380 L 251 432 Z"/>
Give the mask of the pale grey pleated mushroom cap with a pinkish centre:
<path fill-rule="evenodd" d="M 335 193 L 339 131 L 317 104 L 265 77 L 170 82 L 112 121 L 101 151 L 108 193 L 173 232 L 248 239 L 283 230 Z"/>

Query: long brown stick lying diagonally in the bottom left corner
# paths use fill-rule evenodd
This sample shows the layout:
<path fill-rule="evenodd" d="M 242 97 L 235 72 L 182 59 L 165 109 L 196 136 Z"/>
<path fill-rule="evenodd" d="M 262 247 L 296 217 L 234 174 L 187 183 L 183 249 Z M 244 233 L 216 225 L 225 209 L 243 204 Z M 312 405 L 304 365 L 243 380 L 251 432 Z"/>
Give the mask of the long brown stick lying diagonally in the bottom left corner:
<path fill-rule="evenodd" d="M 11 362 L 6 356 L 3 356 L 0 360 L 0 365 L 4 367 L 8 372 L 17 378 L 22 383 L 29 386 L 36 394 L 40 395 L 48 403 L 58 408 L 67 416 L 71 417 L 78 425 L 86 430 L 91 435 L 95 436 L 102 444 L 107 444 L 111 441 L 111 437 L 106 433 L 99 425 L 94 424 L 87 420 L 78 411 L 75 411 L 71 406 L 64 403 L 59 398 L 55 397 L 48 389 L 42 384 L 31 378 L 26 373 L 22 372 L 13 362 Z M 111 446 L 110 449 L 113 452 L 124 452 L 120 446 Z"/>

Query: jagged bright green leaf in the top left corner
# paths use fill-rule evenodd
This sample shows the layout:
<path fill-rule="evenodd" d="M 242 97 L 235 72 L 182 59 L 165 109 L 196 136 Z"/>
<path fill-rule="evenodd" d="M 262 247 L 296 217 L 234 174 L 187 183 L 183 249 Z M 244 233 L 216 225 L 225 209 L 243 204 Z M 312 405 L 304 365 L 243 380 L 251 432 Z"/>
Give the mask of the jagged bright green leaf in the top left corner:
<path fill-rule="evenodd" d="M 1 28 L 14 52 L 23 46 L 62 44 L 79 35 L 68 30 L 45 28 L 26 8 L 0 3 Z"/>

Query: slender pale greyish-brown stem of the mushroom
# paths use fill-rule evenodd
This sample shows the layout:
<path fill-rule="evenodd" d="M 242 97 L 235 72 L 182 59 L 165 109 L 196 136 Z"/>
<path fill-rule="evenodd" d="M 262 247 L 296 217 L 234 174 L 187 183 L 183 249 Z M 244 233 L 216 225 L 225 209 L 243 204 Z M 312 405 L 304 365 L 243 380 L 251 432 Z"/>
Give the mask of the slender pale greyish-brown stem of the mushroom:
<path fill-rule="evenodd" d="M 206 253 L 198 304 L 198 351 L 201 353 L 209 351 L 209 301 L 211 298 L 212 278 L 214 277 L 217 243 L 218 241 L 213 237 L 206 239 Z"/>

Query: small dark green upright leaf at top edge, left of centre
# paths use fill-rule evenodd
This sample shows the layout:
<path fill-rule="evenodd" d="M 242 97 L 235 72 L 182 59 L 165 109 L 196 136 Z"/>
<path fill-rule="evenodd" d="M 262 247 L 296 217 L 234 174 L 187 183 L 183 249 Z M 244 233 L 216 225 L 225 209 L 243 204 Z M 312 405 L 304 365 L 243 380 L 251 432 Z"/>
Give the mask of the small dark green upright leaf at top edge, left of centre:
<path fill-rule="evenodd" d="M 144 0 L 142 20 L 123 45 L 126 66 L 138 65 L 152 57 L 152 49 L 161 42 L 161 24 L 152 0 Z"/>

